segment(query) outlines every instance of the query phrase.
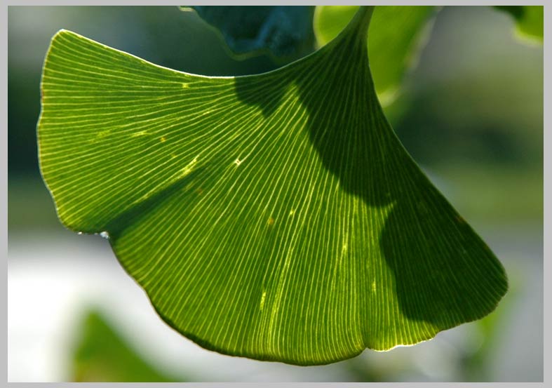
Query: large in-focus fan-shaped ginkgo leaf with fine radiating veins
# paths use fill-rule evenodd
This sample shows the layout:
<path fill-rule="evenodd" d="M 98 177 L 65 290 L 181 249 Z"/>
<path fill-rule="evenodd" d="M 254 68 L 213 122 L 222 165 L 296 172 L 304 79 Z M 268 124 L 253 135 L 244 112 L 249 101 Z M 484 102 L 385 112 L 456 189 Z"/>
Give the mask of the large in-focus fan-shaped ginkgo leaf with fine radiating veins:
<path fill-rule="evenodd" d="M 506 293 L 500 262 L 382 113 L 371 13 L 253 76 L 54 36 L 38 135 L 60 220 L 109 236 L 159 315 L 201 346 L 330 363 L 428 340 Z"/>

